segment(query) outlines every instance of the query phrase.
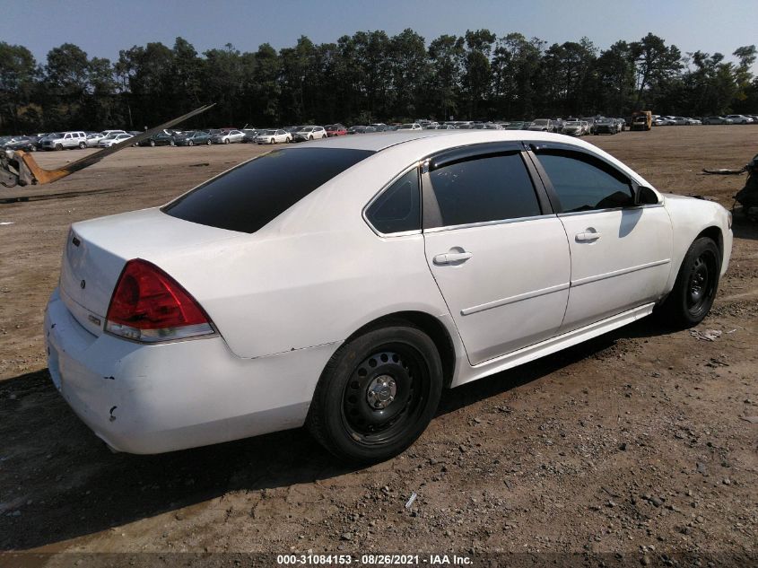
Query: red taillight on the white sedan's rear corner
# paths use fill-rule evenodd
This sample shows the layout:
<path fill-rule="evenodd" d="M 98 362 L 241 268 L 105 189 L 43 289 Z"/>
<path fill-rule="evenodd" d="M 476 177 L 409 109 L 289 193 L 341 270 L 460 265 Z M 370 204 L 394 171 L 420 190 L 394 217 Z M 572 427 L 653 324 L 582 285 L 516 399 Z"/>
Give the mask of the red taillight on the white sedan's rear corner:
<path fill-rule="evenodd" d="M 161 268 L 140 258 L 126 263 L 106 319 L 106 331 L 136 341 L 213 333 L 211 320 L 187 290 Z"/>

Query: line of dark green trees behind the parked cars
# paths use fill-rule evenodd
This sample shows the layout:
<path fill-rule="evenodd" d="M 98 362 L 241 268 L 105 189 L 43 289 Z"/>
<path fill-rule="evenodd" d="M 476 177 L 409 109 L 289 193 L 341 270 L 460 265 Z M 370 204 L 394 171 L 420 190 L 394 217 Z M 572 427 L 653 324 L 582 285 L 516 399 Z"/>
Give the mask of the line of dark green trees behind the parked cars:
<path fill-rule="evenodd" d="M 302 36 L 278 51 L 227 44 L 202 54 L 177 38 L 172 48 L 121 50 L 115 62 L 65 43 L 44 64 L 0 42 L 0 133 L 139 130 L 207 102 L 216 106 L 189 126 L 758 112 L 756 48 L 732 56 L 683 54 L 652 33 L 606 50 L 587 38 L 548 46 L 489 30 L 428 44 L 411 29 L 357 31 L 335 43 Z"/>

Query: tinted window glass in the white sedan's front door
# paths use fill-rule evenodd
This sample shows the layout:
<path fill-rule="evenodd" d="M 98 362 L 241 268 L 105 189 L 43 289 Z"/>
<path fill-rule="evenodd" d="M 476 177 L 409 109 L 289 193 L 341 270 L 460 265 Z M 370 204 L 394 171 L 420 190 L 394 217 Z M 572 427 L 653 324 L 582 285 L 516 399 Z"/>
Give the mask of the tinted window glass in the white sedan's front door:
<path fill-rule="evenodd" d="M 629 179 L 582 153 L 538 153 L 564 212 L 626 207 L 634 203 Z"/>

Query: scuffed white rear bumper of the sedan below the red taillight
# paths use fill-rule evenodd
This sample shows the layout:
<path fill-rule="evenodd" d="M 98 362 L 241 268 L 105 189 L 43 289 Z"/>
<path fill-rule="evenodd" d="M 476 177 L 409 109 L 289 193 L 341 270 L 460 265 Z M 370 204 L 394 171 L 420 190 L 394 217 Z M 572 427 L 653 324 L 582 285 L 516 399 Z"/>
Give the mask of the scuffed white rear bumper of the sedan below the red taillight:
<path fill-rule="evenodd" d="M 301 426 L 338 346 L 241 359 L 220 336 L 161 345 L 93 336 L 57 290 L 45 336 L 50 376 L 76 415 L 114 450 L 141 454 Z"/>

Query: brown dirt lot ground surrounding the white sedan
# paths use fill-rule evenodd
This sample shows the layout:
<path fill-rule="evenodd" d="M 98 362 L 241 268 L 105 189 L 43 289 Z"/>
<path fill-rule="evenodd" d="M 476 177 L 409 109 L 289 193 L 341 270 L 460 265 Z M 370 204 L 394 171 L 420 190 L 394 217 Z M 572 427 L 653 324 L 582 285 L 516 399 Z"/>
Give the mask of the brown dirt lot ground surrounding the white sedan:
<path fill-rule="evenodd" d="M 661 190 L 730 207 L 744 176 L 699 172 L 745 164 L 758 127 L 588 141 Z M 13 223 L 0 225 L 0 551 L 129 553 L 120 558 L 132 563 L 144 552 L 165 562 L 173 552 L 290 551 L 756 562 L 758 424 L 745 418 L 758 416 L 758 228 L 741 218 L 699 327 L 721 331 L 715 341 L 643 320 L 451 390 L 414 447 L 372 468 L 335 463 L 304 431 L 162 456 L 109 453 L 46 369 L 42 313 L 67 227 L 160 205 L 259 151 L 130 148 L 53 186 L 0 188 L 0 198 L 70 194 L 0 205 L 0 223 Z"/>

